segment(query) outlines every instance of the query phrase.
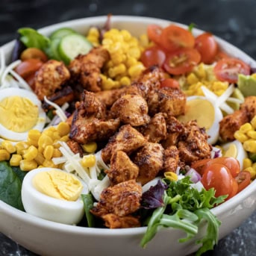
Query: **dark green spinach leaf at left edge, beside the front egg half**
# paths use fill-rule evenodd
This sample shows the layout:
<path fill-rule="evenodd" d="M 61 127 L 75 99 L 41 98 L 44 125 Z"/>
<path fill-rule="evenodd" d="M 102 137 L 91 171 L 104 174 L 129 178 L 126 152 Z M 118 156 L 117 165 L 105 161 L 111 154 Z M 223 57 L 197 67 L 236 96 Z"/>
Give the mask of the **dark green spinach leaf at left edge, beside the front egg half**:
<path fill-rule="evenodd" d="M 5 161 L 0 162 L 0 200 L 24 210 L 21 199 L 22 181 Z"/>

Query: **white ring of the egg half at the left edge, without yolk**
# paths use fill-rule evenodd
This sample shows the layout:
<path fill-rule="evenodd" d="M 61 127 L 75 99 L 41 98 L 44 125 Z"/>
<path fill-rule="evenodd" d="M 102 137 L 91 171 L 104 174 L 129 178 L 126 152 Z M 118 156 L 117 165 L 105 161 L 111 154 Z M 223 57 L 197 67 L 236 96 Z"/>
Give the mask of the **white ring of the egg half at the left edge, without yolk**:
<path fill-rule="evenodd" d="M 37 95 L 32 93 L 31 91 L 20 89 L 20 88 L 6 88 L 6 89 L 0 90 L 0 102 L 1 100 L 10 96 L 20 96 L 22 98 L 29 99 L 33 104 L 37 105 L 38 119 L 37 119 L 37 124 L 34 125 L 33 129 L 43 131 L 43 128 L 46 124 L 46 113 L 43 110 L 41 106 L 42 104 L 40 100 L 37 98 Z M 25 131 L 25 132 L 10 131 L 9 129 L 5 128 L 4 125 L 0 124 L 0 137 L 6 140 L 22 141 L 27 139 L 28 131 Z"/>

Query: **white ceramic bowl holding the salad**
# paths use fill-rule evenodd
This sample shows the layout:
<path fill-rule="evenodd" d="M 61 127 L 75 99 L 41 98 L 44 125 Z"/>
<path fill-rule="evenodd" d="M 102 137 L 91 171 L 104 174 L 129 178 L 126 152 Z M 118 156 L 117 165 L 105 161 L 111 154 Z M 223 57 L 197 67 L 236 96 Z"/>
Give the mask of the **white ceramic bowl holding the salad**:
<path fill-rule="evenodd" d="M 75 30 L 86 33 L 90 25 L 103 25 L 106 16 L 86 19 L 77 19 L 63 22 L 40 30 L 41 33 L 49 35 L 52 31 L 63 26 L 75 28 Z M 136 16 L 113 16 L 111 26 L 125 28 L 134 36 L 145 33 L 149 24 L 158 24 L 163 27 L 169 25 L 169 21 L 163 19 L 143 18 Z M 181 24 L 179 24 L 181 25 Z M 181 25 L 182 26 L 182 25 Z M 194 28 L 194 34 L 202 31 Z M 251 66 L 256 67 L 255 60 L 243 53 L 224 40 L 216 38 L 219 45 L 228 54 L 245 60 Z M 7 59 L 14 42 L 3 46 Z M 237 228 L 256 210 L 256 180 L 246 187 L 243 192 L 222 205 L 215 207 L 212 211 L 222 221 L 219 228 L 219 239 L 225 237 L 234 228 Z M 202 237 L 204 227 L 198 236 L 187 243 L 178 243 L 178 239 L 184 237 L 184 232 L 172 228 L 162 229 L 154 239 L 146 246 L 140 247 L 140 240 L 146 228 L 125 229 L 103 229 L 83 228 L 72 225 L 63 225 L 50 222 L 36 216 L 28 215 L 20 210 L 0 201 L 0 231 L 15 240 L 22 246 L 36 252 L 39 255 L 188 255 L 195 252 L 196 238 Z"/>

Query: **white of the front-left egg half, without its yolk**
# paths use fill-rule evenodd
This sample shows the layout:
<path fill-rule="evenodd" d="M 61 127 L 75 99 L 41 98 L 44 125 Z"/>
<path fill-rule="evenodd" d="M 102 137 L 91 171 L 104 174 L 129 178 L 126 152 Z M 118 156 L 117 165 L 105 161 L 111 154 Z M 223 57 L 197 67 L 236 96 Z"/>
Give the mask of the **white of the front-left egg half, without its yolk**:
<path fill-rule="evenodd" d="M 65 201 L 54 199 L 51 196 L 46 196 L 40 193 L 33 186 L 33 178 L 39 172 L 47 172 L 54 168 L 39 168 L 28 172 L 22 183 L 22 204 L 27 213 L 38 216 L 42 219 L 48 219 L 53 222 L 60 222 L 68 225 L 75 225 L 81 221 L 84 216 L 84 203 L 79 196 L 76 201 Z M 64 172 L 61 169 L 54 169 Z M 77 176 L 76 176 L 77 177 Z M 81 181 L 81 179 L 79 179 Z M 81 193 L 88 193 L 87 185 L 83 184 Z"/>

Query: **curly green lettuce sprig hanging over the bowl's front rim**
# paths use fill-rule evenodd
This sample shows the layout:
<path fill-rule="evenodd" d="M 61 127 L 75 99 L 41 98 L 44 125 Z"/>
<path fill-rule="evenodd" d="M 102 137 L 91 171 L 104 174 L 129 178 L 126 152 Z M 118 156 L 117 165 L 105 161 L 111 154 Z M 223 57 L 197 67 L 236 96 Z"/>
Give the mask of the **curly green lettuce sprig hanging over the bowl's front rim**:
<path fill-rule="evenodd" d="M 198 234 L 199 225 L 202 221 L 206 221 L 207 234 L 201 240 L 196 241 L 196 243 L 202 244 L 196 255 L 202 255 L 203 252 L 213 249 L 218 241 L 221 222 L 210 211 L 210 208 L 224 202 L 227 196 L 216 198 L 213 189 L 196 190 L 190 186 L 192 184 L 190 177 L 182 178 L 179 181 L 165 179 L 160 182 L 163 183 L 162 187 L 164 184 L 168 185 L 167 189 L 163 191 L 163 204 L 155 208 L 152 213 L 140 245 L 145 247 L 160 228 L 178 228 L 185 231 L 187 237 L 179 240 L 180 243 L 184 243 L 195 237 Z M 157 184 L 154 187 L 159 191 L 159 186 L 160 184 Z M 157 196 L 159 198 L 159 194 Z M 146 204 L 145 196 L 143 196 L 143 204 Z"/>

